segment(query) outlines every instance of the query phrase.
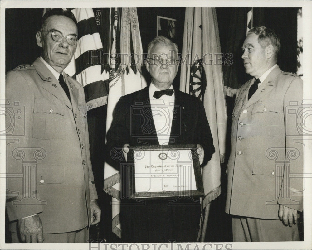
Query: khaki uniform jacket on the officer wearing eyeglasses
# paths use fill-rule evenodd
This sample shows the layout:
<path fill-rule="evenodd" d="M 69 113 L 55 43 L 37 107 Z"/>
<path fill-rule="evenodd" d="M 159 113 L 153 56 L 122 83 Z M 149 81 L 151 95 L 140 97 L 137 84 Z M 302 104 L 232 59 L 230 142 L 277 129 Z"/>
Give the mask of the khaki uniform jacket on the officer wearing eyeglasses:
<path fill-rule="evenodd" d="M 10 221 L 39 213 L 43 233 L 90 225 L 97 199 L 83 87 L 64 78 L 71 102 L 39 58 L 6 75 L 7 213 Z"/>

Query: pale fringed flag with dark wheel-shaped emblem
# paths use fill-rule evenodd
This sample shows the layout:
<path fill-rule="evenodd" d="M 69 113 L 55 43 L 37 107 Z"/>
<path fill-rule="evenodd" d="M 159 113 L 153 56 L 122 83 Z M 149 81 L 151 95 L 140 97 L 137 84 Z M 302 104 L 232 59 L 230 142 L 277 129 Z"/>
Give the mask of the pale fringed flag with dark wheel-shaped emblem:
<path fill-rule="evenodd" d="M 180 90 L 202 100 L 216 149 L 202 168 L 204 209 L 221 193 L 220 163 L 224 161 L 227 130 L 222 65 L 215 61 L 221 53 L 215 8 L 186 8 L 183 37 Z M 187 56 L 190 61 L 184 61 Z"/>

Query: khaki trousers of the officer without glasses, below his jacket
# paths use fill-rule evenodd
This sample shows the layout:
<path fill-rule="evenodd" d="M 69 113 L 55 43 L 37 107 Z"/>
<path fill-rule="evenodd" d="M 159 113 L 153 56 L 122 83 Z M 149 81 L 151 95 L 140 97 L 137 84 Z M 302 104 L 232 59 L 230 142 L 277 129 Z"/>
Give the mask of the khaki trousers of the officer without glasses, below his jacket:
<path fill-rule="evenodd" d="M 233 242 L 299 241 L 298 224 L 284 226 L 279 219 L 233 217 Z"/>

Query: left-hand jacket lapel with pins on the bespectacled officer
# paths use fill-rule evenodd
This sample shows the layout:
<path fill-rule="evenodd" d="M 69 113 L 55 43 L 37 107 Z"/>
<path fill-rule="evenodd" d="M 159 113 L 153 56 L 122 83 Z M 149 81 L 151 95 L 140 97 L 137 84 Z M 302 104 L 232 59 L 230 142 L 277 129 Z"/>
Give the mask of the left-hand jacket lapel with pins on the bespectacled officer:
<path fill-rule="evenodd" d="M 40 86 L 65 103 L 68 108 L 72 109 L 71 102 L 65 91 L 46 65 L 44 65 L 39 58 L 33 63 L 33 65 L 42 79 L 42 82 L 39 83 Z"/>

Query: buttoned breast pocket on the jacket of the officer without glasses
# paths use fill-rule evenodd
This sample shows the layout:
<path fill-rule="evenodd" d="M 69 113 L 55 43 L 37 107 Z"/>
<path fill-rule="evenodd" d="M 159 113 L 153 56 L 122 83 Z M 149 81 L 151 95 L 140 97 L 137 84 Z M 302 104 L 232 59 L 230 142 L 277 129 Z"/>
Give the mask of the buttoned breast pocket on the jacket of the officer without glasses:
<path fill-rule="evenodd" d="M 271 137 L 284 133 L 283 110 L 280 102 L 266 101 L 253 105 L 251 111 L 251 136 Z"/>

